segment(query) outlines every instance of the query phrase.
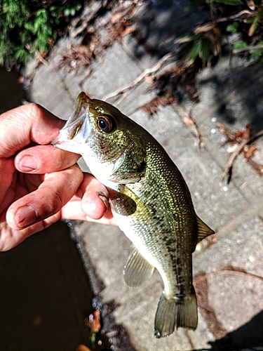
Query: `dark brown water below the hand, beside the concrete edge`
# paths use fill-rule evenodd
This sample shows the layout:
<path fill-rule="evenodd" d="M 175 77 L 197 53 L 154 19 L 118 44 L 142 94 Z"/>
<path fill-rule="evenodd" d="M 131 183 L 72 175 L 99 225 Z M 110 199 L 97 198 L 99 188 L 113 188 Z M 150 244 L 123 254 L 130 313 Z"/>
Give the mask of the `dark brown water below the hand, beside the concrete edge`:
<path fill-rule="evenodd" d="M 0 254 L 0 350 L 76 350 L 90 345 L 93 312 L 76 243 L 55 223 Z"/>

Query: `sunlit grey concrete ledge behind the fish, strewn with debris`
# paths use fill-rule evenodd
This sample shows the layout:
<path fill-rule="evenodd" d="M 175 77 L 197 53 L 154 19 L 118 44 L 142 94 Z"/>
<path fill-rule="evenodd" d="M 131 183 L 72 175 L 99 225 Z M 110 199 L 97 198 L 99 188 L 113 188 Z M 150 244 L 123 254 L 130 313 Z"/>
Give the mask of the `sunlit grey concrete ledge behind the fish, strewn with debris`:
<path fill-rule="evenodd" d="M 164 5 L 157 10 L 158 27 L 169 11 Z M 143 19 L 143 6 L 141 11 L 138 18 Z M 178 13 L 178 18 L 181 16 Z M 176 14 L 173 20 L 176 21 Z M 139 20 L 137 23 L 140 25 Z M 161 29 L 149 32 L 151 45 L 154 40 L 161 40 L 159 32 L 163 33 Z M 150 55 L 127 36 L 123 45 L 115 42 L 103 58 L 82 72 L 58 69 L 61 54 L 75 42 L 70 38 L 60 40 L 47 65 L 37 68 L 30 84 L 32 101 L 62 119 L 72 113 L 80 91 L 102 99 L 133 82 L 159 60 L 159 55 Z M 167 51 L 163 47 L 156 49 L 160 55 Z M 31 65 L 34 67 L 34 62 Z M 168 338 L 157 340 L 154 315 L 162 291 L 158 272 L 142 286 L 129 288 L 122 272 L 130 241 L 119 228 L 74 224 L 97 303 L 107 317 L 104 332 L 111 336 L 115 350 L 263 350 L 262 176 L 239 155 L 231 183 L 224 181 L 220 185 L 229 153 L 228 145 L 223 145 L 226 138 L 217 128 L 218 123 L 224 122 L 233 131 L 244 129 L 248 123 L 254 131 L 262 129 L 262 71 L 262 67 L 249 66 L 244 59 L 229 55 L 214 69 L 205 68 L 198 74 L 201 102 L 194 105 L 183 97 L 180 104 L 191 111 L 196 121 L 203 142 L 201 149 L 193 126 L 182 121 L 182 109 L 160 107 L 151 119 L 142 110 L 136 110 L 154 97 L 153 92 L 147 93 L 147 82 L 142 82 L 118 105 L 121 112 L 144 126 L 163 145 L 189 186 L 196 213 L 216 234 L 202 241 L 194 253 L 199 307 L 196 331 L 178 329 Z M 30 72 L 28 65 L 26 74 Z M 255 145 L 255 160 L 262 164 L 262 138 Z"/>

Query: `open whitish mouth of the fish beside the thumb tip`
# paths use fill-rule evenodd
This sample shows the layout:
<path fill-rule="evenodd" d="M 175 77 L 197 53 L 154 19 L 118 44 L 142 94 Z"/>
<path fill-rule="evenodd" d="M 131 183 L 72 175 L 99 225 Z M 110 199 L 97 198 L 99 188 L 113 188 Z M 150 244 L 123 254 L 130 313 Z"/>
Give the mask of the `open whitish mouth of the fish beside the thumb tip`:
<path fill-rule="evenodd" d="M 65 126 L 60 129 L 58 138 L 52 140 L 50 144 L 62 150 L 81 154 L 83 144 L 87 143 L 91 131 L 88 111 L 89 107 L 81 115 L 76 115 L 74 112 Z"/>

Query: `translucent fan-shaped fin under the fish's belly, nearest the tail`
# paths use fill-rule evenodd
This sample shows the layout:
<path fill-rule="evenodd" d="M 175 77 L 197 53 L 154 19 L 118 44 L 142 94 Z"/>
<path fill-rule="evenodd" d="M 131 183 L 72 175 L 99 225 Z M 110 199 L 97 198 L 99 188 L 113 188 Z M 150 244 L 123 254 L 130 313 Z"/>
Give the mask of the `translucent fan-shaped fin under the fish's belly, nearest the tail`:
<path fill-rule="evenodd" d="M 124 280 L 128 286 L 139 286 L 151 277 L 154 266 L 150 265 L 142 254 L 134 248 L 130 253 L 126 266 L 124 267 Z"/>

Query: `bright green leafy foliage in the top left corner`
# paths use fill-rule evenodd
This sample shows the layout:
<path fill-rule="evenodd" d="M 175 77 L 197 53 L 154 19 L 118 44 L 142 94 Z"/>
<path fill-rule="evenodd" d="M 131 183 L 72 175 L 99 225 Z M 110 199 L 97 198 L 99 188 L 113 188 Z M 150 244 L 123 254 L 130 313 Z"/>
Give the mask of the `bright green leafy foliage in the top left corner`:
<path fill-rule="evenodd" d="M 46 55 L 80 9 L 78 0 L 0 0 L 0 65 L 25 64 L 36 52 Z"/>

